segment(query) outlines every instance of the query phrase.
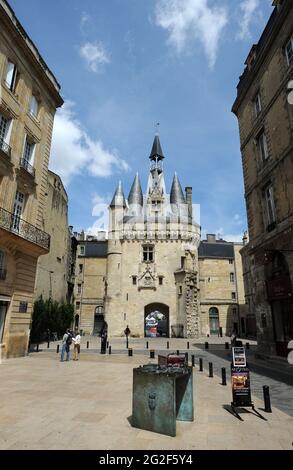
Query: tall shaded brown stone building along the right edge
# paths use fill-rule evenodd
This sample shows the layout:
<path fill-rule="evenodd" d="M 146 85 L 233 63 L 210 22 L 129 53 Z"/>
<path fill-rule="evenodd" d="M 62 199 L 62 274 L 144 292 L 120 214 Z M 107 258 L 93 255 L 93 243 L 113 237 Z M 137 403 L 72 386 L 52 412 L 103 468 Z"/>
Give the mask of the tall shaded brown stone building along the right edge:
<path fill-rule="evenodd" d="M 288 99 L 293 3 L 275 0 L 274 5 L 246 60 L 233 112 L 239 121 L 249 228 L 242 255 L 258 348 L 264 355 L 287 356 L 293 339 L 293 112 Z"/>

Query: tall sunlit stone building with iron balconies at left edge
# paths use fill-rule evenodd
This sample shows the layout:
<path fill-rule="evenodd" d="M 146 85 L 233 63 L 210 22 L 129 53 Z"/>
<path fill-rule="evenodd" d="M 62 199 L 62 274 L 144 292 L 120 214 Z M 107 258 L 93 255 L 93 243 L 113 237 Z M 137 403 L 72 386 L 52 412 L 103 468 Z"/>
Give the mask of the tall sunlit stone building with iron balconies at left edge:
<path fill-rule="evenodd" d="M 0 343 L 27 351 L 44 230 L 48 162 L 60 86 L 5 0 L 0 0 Z"/>

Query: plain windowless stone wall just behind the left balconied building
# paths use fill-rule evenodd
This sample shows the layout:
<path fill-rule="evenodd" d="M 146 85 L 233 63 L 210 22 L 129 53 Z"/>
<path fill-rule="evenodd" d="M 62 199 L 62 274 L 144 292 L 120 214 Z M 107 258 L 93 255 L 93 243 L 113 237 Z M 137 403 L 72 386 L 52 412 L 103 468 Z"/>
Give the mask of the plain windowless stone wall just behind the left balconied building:
<path fill-rule="evenodd" d="M 50 253 L 40 256 L 37 265 L 35 298 L 57 302 L 68 299 L 71 237 L 68 227 L 68 196 L 61 178 L 48 171 L 44 230 L 51 237 Z"/>

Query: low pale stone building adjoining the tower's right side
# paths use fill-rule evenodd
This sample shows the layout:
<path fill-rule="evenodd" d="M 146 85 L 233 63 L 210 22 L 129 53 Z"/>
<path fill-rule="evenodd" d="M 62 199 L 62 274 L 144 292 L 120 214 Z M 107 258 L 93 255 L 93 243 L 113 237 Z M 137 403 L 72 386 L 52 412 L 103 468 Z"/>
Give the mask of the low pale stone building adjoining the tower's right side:
<path fill-rule="evenodd" d="M 242 243 L 216 240 L 207 235 L 200 243 L 199 280 L 201 332 L 203 335 L 230 336 L 236 330 L 248 335 L 247 305 L 244 295 Z"/>

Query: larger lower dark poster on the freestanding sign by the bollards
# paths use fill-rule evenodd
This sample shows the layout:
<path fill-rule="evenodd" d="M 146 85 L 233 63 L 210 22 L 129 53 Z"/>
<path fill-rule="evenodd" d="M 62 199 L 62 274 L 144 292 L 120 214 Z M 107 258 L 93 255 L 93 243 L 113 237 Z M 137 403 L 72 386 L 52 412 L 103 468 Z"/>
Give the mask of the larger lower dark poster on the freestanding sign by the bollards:
<path fill-rule="evenodd" d="M 231 367 L 234 406 L 251 405 L 250 375 L 248 367 Z"/>

